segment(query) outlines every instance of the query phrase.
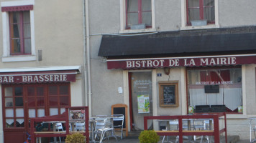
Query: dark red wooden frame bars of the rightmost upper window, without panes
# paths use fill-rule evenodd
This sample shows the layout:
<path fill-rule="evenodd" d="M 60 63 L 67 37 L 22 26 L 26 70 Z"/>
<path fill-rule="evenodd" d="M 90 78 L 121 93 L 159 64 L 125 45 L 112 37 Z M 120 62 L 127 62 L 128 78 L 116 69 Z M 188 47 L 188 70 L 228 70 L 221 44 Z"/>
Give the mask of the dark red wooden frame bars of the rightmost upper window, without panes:
<path fill-rule="evenodd" d="M 188 18 L 188 10 L 189 9 L 199 9 L 199 16 L 200 16 L 200 19 L 203 20 L 204 19 L 204 8 L 206 7 L 214 7 L 215 8 L 215 5 L 214 6 L 204 6 L 204 0 L 199 0 L 199 7 L 188 7 L 188 1 L 190 0 L 186 0 L 186 13 L 187 13 L 187 25 L 188 26 L 191 26 L 191 21 L 189 21 L 189 18 Z M 215 2 L 215 0 L 213 0 Z M 208 21 L 207 20 L 207 24 L 215 24 L 215 19 L 214 21 Z"/>

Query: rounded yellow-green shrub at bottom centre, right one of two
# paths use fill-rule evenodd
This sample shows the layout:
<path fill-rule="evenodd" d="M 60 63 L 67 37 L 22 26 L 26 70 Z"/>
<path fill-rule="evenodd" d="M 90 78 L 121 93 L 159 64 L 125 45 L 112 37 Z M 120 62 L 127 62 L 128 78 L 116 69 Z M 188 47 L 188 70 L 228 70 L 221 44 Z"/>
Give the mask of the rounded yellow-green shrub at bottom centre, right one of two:
<path fill-rule="evenodd" d="M 140 143 L 157 143 L 159 141 L 159 136 L 154 130 L 145 130 L 140 132 Z"/>

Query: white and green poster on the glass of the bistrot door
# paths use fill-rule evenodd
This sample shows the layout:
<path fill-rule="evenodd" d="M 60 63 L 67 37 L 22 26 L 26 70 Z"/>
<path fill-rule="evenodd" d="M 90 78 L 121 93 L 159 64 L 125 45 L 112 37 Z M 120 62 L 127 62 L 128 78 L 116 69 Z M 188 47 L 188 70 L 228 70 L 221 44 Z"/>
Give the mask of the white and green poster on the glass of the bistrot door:
<path fill-rule="evenodd" d="M 150 96 L 138 95 L 138 113 L 150 113 Z"/>

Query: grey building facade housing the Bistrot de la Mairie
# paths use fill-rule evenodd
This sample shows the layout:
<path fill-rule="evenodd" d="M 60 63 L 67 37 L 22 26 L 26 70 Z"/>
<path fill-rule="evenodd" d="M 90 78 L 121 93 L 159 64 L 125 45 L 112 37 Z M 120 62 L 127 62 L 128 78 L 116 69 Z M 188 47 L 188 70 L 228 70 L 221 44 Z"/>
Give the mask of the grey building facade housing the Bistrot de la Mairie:
<path fill-rule="evenodd" d="M 256 114 L 255 4 L 89 1 L 92 114 L 127 104 L 133 131 L 143 129 L 145 116 L 227 112 L 227 133 L 249 139 L 247 118 Z"/>

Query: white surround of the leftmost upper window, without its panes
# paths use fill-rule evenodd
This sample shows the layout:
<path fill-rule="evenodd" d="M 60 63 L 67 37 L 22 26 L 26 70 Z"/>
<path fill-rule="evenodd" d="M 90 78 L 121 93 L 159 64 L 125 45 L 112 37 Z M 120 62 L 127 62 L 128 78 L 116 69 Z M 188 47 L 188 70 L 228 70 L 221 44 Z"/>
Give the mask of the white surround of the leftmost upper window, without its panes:
<path fill-rule="evenodd" d="M 3 1 L 1 7 L 7 6 L 27 6 L 35 5 L 35 0 L 23 0 L 23 1 Z M 35 22 L 34 22 L 34 10 L 30 10 L 30 32 L 31 32 L 31 54 L 26 55 L 12 55 L 10 45 L 10 31 L 9 31 L 9 11 L 2 11 L 2 28 L 3 28 L 3 55 L 2 62 L 10 61 L 35 61 Z"/>

